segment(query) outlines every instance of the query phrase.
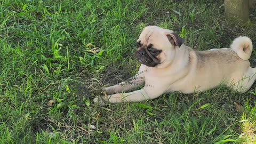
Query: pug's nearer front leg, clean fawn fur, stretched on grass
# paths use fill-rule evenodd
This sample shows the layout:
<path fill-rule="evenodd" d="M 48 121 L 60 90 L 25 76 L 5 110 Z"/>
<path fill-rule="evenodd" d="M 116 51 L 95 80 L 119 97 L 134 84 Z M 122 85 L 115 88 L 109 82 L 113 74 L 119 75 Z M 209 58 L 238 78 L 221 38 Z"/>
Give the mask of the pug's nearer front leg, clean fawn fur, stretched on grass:
<path fill-rule="evenodd" d="M 116 93 L 113 95 L 108 95 L 108 101 L 111 103 L 119 102 L 139 102 L 148 99 L 155 99 L 163 94 L 163 90 L 155 89 L 141 89 L 129 93 Z"/>

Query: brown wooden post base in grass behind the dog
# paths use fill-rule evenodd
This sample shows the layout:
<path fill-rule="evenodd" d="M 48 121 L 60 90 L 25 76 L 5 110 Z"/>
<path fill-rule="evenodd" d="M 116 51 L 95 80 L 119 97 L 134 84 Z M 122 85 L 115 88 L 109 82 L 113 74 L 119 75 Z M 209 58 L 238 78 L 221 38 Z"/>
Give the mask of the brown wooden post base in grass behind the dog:
<path fill-rule="evenodd" d="M 227 19 L 249 20 L 249 0 L 225 0 L 224 5 Z"/>

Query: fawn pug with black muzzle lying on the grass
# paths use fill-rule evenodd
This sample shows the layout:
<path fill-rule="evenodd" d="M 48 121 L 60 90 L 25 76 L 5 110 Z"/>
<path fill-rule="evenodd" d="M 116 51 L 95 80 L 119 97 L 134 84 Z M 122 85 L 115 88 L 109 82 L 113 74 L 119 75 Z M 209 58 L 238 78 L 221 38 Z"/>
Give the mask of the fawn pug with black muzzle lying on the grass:
<path fill-rule="evenodd" d="M 256 68 L 251 68 L 248 60 L 250 38 L 237 37 L 230 48 L 208 51 L 195 51 L 183 42 L 172 30 L 145 27 L 135 52 L 141 63 L 138 73 L 126 82 L 106 87 L 106 96 L 94 102 L 139 102 L 174 91 L 203 92 L 221 84 L 243 93 L 254 83 Z M 136 90 L 140 86 L 143 88 Z"/>

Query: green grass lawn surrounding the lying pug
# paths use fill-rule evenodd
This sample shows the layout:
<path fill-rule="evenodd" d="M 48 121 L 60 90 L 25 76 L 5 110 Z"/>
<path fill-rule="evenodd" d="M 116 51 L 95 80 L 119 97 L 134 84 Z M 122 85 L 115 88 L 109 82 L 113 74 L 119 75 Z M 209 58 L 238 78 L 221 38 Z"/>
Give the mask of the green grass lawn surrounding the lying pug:
<path fill-rule="evenodd" d="M 206 0 L 0 1 L 0 143 L 255 143 L 255 86 L 92 101 L 136 73 L 135 41 L 147 25 L 176 31 L 196 50 L 228 47 L 241 35 L 255 46 L 255 11 L 247 26 L 223 12 L 222 1 Z M 253 51 L 253 66 L 255 58 Z"/>

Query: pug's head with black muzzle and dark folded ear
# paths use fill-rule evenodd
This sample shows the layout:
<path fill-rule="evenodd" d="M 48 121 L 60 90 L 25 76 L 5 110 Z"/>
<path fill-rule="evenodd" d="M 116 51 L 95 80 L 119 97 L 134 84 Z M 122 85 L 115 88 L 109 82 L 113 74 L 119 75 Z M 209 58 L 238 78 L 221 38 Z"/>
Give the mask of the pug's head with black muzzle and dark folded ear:
<path fill-rule="evenodd" d="M 148 67 L 168 66 L 175 56 L 175 49 L 183 44 L 183 39 L 172 30 L 157 26 L 147 26 L 137 40 L 137 60 Z"/>

